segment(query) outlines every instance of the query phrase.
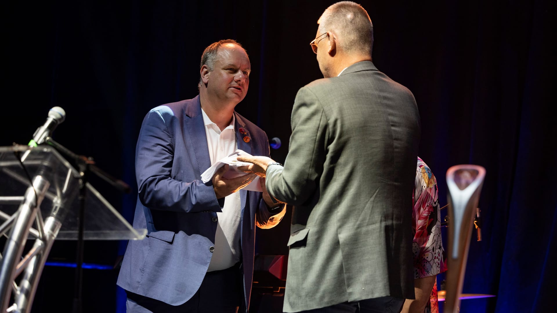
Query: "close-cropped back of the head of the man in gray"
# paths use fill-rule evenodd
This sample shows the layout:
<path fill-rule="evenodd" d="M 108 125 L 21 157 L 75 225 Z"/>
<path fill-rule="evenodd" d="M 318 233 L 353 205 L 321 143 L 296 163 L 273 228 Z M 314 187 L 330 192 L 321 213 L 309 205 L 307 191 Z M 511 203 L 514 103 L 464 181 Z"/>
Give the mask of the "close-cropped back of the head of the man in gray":
<path fill-rule="evenodd" d="M 317 24 L 320 34 L 331 31 L 339 37 L 339 51 L 372 56 L 373 24 L 368 12 L 360 4 L 337 2 L 321 14 Z"/>

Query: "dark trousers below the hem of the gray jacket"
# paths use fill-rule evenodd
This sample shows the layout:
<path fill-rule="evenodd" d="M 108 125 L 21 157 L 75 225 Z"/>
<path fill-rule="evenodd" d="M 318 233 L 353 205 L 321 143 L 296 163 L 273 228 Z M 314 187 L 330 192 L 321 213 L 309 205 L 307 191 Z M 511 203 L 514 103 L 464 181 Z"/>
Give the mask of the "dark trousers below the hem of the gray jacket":
<path fill-rule="evenodd" d="M 354 302 L 343 302 L 300 313 L 399 313 L 404 299 L 379 297 Z"/>

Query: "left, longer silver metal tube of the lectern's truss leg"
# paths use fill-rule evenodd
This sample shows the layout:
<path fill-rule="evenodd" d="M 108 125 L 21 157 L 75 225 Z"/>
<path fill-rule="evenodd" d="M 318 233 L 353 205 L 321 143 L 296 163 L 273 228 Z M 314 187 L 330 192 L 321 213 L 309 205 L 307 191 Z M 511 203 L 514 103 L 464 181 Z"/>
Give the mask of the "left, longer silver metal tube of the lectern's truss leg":
<path fill-rule="evenodd" d="M 0 268 L 0 299 L 2 300 L 2 312 L 8 309 L 9 299 L 12 291 L 12 283 L 16 273 L 16 266 L 21 258 L 23 247 L 27 240 L 29 229 L 35 221 L 35 214 L 41 206 L 46 190 L 50 183 L 40 175 L 33 178 L 33 185 L 27 188 L 23 201 L 19 205 L 16 222 L 6 240 L 4 253 L 2 253 L 2 267 Z"/>

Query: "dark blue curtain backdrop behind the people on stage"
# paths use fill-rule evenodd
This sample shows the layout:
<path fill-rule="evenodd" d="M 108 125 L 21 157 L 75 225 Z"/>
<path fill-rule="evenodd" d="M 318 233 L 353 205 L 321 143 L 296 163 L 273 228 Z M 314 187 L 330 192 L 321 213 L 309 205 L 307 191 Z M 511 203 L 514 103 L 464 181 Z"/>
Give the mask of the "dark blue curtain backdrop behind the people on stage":
<path fill-rule="evenodd" d="M 143 116 L 196 96 L 204 47 L 234 38 L 253 70 L 237 111 L 282 140 L 271 156 L 283 162 L 296 92 L 321 77 L 308 43 L 332 3 L 4 2 L 0 145 L 26 144 L 48 109 L 63 107 L 67 118 L 54 138 L 134 188 L 123 195 L 92 181 L 131 221 Z M 438 179 L 440 203 L 446 204 L 449 167 L 487 170 L 479 204 L 483 240 L 471 239 L 463 292 L 495 297 L 463 300 L 461 312 L 550 310 L 557 278 L 555 3 L 360 3 L 374 23 L 375 65 L 416 96 L 420 156 Z M 258 231 L 258 253 L 287 254 L 287 222 Z M 125 242 L 85 243 L 86 262 L 114 269 L 84 270 L 84 311 L 124 311 L 115 285 L 124 249 Z M 50 258 L 75 262 L 75 242 L 56 242 Z M 73 282 L 73 270 L 46 267 L 33 311 L 70 311 Z"/>

